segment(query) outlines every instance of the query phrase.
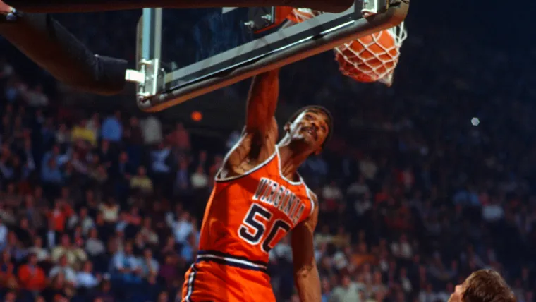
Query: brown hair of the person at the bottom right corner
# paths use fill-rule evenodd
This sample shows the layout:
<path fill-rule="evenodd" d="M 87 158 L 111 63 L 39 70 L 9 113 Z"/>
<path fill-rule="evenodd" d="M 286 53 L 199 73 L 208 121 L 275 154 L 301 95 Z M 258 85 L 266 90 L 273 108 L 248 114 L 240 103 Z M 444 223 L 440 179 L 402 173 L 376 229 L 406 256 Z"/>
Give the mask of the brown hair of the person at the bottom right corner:
<path fill-rule="evenodd" d="M 477 270 L 464 284 L 463 302 L 516 302 L 516 296 L 494 270 Z"/>

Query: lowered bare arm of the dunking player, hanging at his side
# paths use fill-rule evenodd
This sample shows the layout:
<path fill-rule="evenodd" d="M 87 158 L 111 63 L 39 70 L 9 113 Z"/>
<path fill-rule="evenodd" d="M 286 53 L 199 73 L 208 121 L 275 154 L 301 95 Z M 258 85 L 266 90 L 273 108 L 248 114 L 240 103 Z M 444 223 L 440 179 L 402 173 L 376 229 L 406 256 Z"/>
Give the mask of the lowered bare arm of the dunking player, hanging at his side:
<path fill-rule="evenodd" d="M 322 300 L 320 277 L 315 260 L 315 243 L 313 235 L 318 222 L 318 206 L 315 198 L 315 211 L 300 222 L 292 231 L 292 258 L 294 262 L 294 281 L 298 288 L 301 302 L 319 302 Z"/>

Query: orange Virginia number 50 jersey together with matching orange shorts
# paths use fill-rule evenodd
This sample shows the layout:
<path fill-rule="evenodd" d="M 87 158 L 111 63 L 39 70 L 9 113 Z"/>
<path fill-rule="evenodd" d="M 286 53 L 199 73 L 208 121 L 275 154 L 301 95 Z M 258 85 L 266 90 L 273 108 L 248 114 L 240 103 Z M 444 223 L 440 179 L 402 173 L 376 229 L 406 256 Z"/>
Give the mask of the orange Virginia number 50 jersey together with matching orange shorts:
<path fill-rule="evenodd" d="M 245 175 L 217 176 L 183 301 L 275 301 L 268 253 L 315 210 L 303 180 L 281 174 L 279 150 Z"/>

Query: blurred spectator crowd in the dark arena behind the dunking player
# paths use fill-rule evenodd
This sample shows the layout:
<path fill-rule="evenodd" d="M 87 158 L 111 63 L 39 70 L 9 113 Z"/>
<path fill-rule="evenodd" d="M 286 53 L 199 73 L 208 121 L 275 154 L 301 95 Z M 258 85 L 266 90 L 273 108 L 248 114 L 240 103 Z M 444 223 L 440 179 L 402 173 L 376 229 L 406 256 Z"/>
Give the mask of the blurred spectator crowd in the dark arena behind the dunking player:
<path fill-rule="evenodd" d="M 281 71 L 280 122 L 304 104 L 336 120 L 327 150 L 302 167 L 321 206 L 322 302 L 446 302 L 484 267 L 534 302 L 536 47 L 520 47 L 519 31 L 509 43 L 475 35 L 487 23 L 456 35 L 463 23 L 418 26 L 423 11 L 389 89 L 343 78 L 332 54 Z M 95 52 L 132 61 L 137 17 L 59 19 Z M 188 26 L 175 30 L 188 45 Z M 72 92 L 0 44 L 3 301 L 180 301 L 214 174 L 243 123 L 229 104 L 243 108 L 248 82 L 146 115 L 132 92 Z M 270 253 L 278 301 L 298 301 L 291 263 L 285 238 Z"/>

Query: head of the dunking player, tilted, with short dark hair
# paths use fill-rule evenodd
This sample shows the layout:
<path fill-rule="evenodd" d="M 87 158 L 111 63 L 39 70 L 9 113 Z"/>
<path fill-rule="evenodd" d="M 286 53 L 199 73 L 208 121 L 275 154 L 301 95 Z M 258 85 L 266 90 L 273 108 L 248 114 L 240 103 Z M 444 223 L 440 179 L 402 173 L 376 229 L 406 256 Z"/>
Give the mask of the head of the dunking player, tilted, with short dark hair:
<path fill-rule="evenodd" d="M 319 153 L 329 134 L 328 120 L 324 111 L 315 109 L 303 111 L 288 127 L 291 139 L 303 140 L 311 152 Z"/>

